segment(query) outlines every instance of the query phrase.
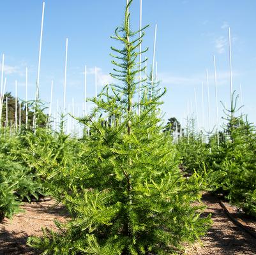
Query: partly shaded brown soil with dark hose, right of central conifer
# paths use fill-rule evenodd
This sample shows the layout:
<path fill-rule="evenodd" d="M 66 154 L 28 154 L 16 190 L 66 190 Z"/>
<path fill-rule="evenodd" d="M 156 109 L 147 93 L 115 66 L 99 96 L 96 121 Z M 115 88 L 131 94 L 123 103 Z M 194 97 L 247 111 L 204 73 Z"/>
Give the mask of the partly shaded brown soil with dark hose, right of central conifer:
<path fill-rule="evenodd" d="M 195 244 L 188 249 L 187 255 L 255 255 L 256 239 L 245 233 L 241 228 L 229 221 L 218 200 L 204 194 L 202 201 L 206 204 L 206 214 L 212 214 L 213 226 L 205 237 L 201 238 L 202 245 Z M 243 225 L 250 227 L 256 233 L 256 224 L 253 219 L 246 219 L 237 212 L 236 207 L 227 203 L 225 206 L 229 212 L 239 219 Z"/>

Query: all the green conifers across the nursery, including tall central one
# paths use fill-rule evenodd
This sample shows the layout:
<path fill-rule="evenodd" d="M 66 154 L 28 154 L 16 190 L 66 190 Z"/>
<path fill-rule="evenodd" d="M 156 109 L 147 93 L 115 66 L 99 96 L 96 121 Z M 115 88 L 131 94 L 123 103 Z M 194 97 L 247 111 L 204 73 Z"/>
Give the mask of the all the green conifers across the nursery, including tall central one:
<path fill-rule="evenodd" d="M 1 218 L 19 211 L 22 200 L 45 195 L 70 214 L 68 222 L 56 223 L 59 231 L 29 238 L 42 254 L 177 254 L 211 226 L 210 215 L 202 215 L 203 191 L 222 192 L 245 212 L 256 212 L 252 124 L 235 116 L 234 103 L 219 143 L 216 134 L 206 142 L 195 133 L 193 120 L 186 132 L 164 125 L 165 91 L 151 74 L 137 79 L 145 71 L 138 57 L 146 27 L 130 29 L 131 4 L 112 36 L 121 45 L 112 47 L 116 84 L 88 99 L 93 110 L 77 119 L 84 136 L 65 134 L 64 115 L 53 131 L 39 102 L 30 118 L 42 123 L 36 134 L 26 125 L 15 135 L 10 126 L 1 129 Z M 114 122 L 106 122 L 112 116 Z M 174 143 L 176 131 L 186 135 Z"/>

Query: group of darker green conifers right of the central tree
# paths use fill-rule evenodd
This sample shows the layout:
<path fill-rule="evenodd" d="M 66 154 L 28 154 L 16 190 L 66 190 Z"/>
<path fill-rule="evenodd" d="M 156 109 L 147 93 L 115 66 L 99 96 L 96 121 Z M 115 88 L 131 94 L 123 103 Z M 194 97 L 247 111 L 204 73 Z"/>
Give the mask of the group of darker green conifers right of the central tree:
<path fill-rule="evenodd" d="M 256 216 L 256 133 L 255 126 L 243 116 L 237 116 L 237 98 L 233 94 L 230 110 L 225 109 L 226 124 L 223 132 L 211 134 L 207 143 L 200 134 L 187 132 L 177 143 L 177 150 L 183 161 L 183 170 L 202 173 L 204 164 L 207 173 L 222 172 L 218 179 L 218 193 L 225 194 L 232 203 Z"/>

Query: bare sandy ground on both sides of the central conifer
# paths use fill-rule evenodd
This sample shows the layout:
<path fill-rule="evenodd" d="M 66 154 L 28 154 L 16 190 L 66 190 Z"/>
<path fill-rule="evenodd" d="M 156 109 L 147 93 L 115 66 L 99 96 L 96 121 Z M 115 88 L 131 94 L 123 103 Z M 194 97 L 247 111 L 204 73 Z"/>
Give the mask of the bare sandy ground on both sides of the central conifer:
<path fill-rule="evenodd" d="M 241 230 L 229 220 L 219 205 L 218 200 L 204 194 L 202 201 L 207 206 L 205 214 L 212 214 L 213 226 L 199 243 L 187 249 L 187 255 L 256 255 L 256 239 Z M 256 233 L 256 221 L 247 219 L 237 212 L 236 207 L 225 203 L 230 214 L 247 228 Z M 68 219 L 62 207 L 54 207 L 54 201 L 41 203 L 24 203 L 24 212 L 17 214 L 10 221 L 4 219 L 0 224 L 0 255 L 35 255 L 33 249 L 27 247 L 27 237 L 40 236 L 41 227 L 55 228 L 54 221 Z M 61 254 L 60 254 L 61 255 Z"/>

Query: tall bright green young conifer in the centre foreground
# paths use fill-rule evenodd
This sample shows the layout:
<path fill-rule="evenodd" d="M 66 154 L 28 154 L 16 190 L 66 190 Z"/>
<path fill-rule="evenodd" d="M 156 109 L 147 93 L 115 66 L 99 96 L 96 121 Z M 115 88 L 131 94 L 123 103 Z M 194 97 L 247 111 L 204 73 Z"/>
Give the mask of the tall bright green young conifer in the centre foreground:
<path fill-rule="evenodd" d="M 81 142 L 73 168 L 65 171 L 70 189 L 61 201 L 72 221 L 59 233 L 45 231 L 43 238 L 29 239 L 43 254 L 174 254 L 209 226 L 208 217 L 199 217 L 202 205 L 192 205 L 203 182 L 196 175 L 181 176 L 172 138 L 163 132 L 163 93 L 142 87 L 138 114 L 137 59 L 144 34 L 130 29 L 131 4 L 112 37 L 122 45 L 112 47 L 117 84 L 91 99 L 96 106 L 80 120 L 90 136 Z M 106 124 L 111 116 L 112 125 Z"/>

